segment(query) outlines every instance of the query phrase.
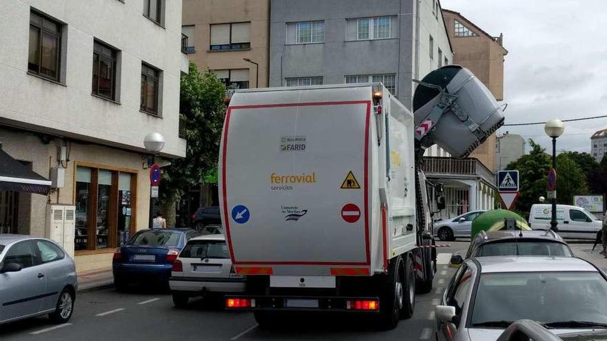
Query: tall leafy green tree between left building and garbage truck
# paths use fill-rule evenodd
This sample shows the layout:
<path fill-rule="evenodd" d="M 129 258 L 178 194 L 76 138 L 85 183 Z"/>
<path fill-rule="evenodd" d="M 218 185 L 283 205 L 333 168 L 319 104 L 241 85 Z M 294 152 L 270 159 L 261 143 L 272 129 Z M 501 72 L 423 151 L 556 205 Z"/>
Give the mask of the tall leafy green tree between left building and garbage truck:
<path fill-rule="evenodd" d="M 190 61 L 189 72 L 181 77 L 179 130 L 185 138 L 186 157 L 163 167 L 160 202 L 167 225 L 175 225 L 175 204 L 192 185 L 208 180 L 217 169 L 219 140 L 226 110 L 226 87 L 210 71 L 200 73 Z"/>

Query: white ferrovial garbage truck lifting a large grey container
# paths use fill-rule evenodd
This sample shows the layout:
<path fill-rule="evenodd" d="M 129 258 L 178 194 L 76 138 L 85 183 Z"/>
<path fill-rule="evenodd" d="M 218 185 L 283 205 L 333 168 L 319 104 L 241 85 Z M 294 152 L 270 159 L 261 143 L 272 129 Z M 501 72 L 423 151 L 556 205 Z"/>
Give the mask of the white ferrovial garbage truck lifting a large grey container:
<path fill-rule="evenodd" d="M 237 90 L 219 152 L 223 231 L 261 327 L 288 312 L 368 315 L 383 329 L 415 308 L 436 271 L 421 171 L 439 143 L 465 157 L 503 124 L 486 87 L 457 65 L 418 82 L 415 114 L 381 83 Z"/>

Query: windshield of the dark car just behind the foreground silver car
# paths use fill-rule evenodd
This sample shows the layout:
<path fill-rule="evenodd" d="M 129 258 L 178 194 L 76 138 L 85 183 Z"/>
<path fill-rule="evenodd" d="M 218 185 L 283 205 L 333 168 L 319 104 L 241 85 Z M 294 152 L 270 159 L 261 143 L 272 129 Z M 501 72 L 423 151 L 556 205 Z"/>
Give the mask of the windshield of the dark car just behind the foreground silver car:
<path fill-rule="evenodd" d="M 560 242 L 488 242 L 481 245 L 477 257 L 485 256 L 573 256 L 569 248 Z"/>

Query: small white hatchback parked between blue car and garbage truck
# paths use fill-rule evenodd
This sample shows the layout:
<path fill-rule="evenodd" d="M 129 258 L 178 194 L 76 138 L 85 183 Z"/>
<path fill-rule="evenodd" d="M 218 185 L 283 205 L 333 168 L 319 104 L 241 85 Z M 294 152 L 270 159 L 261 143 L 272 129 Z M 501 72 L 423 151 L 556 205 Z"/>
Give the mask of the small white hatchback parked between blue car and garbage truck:
<path fill-rule="evenodd" d="M 237 275 L 223 234 L 192 238 L 173 263 L 169 286 L 175 307 L 186 307 L 192 297 L 245 291 L 243 276 Z"/>

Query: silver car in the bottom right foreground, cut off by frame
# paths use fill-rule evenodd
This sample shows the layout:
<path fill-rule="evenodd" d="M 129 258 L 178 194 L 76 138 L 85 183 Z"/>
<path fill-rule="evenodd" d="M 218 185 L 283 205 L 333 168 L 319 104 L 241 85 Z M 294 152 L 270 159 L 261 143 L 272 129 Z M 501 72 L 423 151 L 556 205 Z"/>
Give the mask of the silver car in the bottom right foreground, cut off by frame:
<path fill-rule="evenodd" d="M 555 334 L 607 329 L 607 277 L 575 257 L 468 258 L 436 307 L 438 340 L 497 340 L 511 323 Z"/>

